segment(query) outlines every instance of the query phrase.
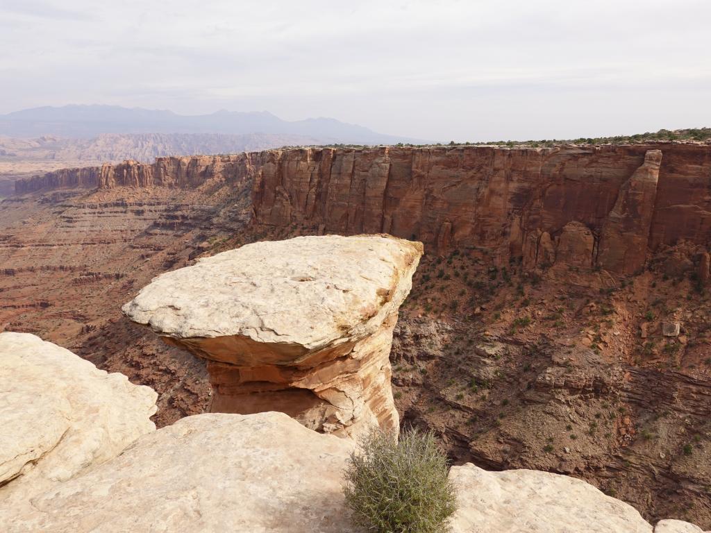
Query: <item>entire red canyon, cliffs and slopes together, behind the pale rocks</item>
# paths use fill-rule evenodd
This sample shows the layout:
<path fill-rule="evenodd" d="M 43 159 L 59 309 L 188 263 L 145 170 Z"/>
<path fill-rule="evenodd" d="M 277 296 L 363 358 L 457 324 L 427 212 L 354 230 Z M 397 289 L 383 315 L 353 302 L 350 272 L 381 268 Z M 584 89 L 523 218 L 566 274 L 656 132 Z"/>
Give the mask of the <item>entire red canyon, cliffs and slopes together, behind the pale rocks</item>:
<path fill-rule="evenodd" d="M 203 362 L 122 317 L 151 278 L 298 235 L 424 243 L 394 326 L 403 424 L 456 464 L 582 478 L 711 527 L 711 146 L 378 147 L 158 158 L 16 182 L 0 326 L 209 409 Z"/>

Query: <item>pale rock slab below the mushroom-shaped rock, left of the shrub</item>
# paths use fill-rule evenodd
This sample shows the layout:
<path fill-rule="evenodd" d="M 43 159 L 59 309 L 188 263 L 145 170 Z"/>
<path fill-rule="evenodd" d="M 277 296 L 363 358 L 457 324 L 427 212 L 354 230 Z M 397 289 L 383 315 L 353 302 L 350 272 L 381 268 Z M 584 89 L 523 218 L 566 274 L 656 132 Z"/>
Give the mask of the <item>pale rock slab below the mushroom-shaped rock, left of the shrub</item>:
<path fill-rule="evenodd" d="M 357 531 L 341 490 L 352 446 L 282 413 L 189 416 L 0 522 L 6 513 L 9 533 Z"/>

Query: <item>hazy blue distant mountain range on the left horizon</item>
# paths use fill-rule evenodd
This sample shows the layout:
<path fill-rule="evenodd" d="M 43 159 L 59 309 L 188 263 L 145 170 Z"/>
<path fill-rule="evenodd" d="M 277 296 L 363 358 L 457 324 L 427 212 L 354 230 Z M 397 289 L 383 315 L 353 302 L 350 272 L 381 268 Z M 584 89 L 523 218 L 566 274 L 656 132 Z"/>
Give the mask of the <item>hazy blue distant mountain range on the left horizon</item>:
<path fill-rule="evenodd" d="M 357 124 L 317 118 L 294 122 L 269 112 L 218 111 L 181 115 L 171 111 L 109 105 L 35 107 L 0 115 L 0 135 L 46 135 L 87 139 L 100 134 L 278 134 L 308 137 L 317 144 L 420 144 L 421 139 L 379 134 Z"/>

